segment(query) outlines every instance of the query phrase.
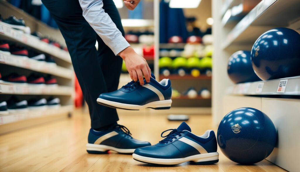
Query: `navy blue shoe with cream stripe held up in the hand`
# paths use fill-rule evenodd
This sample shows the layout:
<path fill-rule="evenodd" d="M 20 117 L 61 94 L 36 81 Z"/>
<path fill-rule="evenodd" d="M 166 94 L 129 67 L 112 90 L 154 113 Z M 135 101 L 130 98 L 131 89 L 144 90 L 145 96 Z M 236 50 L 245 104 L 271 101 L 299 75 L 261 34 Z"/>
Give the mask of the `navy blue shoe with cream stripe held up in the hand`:
<path fill-rule="evenodd" d="M 150 82 L 140 85 L 140 82 L 131 81 L 119 90 L 100 94 L 97 102 L 111 108 L 140 110 L 144 108 L 170 109 L 172 100 L 171 81 L 163 79 L 155 80 L 152 74 Z"/>

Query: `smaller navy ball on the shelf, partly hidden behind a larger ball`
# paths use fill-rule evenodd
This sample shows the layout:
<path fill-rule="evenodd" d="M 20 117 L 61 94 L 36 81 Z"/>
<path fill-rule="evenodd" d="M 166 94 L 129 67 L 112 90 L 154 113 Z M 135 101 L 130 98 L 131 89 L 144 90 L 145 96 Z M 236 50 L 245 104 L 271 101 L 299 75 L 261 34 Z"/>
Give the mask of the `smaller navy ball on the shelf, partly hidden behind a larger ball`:
<path fill-rule="evenodd" d="M 233 53 L 229 58 L 227 73 L 235 84 L 261 81 L 252 68 L 250 51 Z"/>

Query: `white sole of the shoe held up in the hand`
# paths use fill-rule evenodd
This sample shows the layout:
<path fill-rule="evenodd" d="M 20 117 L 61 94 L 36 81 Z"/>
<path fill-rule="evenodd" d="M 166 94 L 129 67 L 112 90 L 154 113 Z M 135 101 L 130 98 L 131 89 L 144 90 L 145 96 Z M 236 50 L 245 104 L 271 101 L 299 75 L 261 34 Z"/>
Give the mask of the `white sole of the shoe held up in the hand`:
<path fill-rule="evenodd" d="M 131 104 L 113 102 L 101 98 L 98 98 L 97 102 L 104 106 L 108 105 L 111 108 L 120 108 L 120 109 L 128 109 L 128 110 L 141 110 L 145 108 L 170 109 L 172 104 L 172 100 L 159 100 L 159 101 L 147 103 L 146 105 L 131 105 Z"/>

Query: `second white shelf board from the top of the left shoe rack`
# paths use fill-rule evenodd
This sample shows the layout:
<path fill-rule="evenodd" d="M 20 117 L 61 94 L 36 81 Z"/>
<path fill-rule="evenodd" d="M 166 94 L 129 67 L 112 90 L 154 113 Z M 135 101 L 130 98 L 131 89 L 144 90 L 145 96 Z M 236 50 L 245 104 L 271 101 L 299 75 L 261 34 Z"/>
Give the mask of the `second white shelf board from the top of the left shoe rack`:
<path fill-rule="evenodd" d="M 41 73 L 52 74 L 67 79 L 73 78 L 73 70 L 48 64 L 47 62 L 41 62 L 33 59 L 29 59 L 24 56 L 7 55 L 0 53 L 0 63 L 11 66 L 21 67 Z"/>

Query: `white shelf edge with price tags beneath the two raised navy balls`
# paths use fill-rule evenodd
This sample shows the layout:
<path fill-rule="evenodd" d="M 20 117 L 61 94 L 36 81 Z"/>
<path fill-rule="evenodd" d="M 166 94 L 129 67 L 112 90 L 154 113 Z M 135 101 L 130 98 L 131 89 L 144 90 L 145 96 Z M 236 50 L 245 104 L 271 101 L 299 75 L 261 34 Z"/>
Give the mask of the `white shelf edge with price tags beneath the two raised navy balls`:
<path fill-rule="evenodd" d="M 287 81 L 284 91 L 284 86 L 279 87 L 283 80 Z M 227 91 L 233 95 L 300 95 L 300 76 L 237 84 L 229 87 Z"/>

